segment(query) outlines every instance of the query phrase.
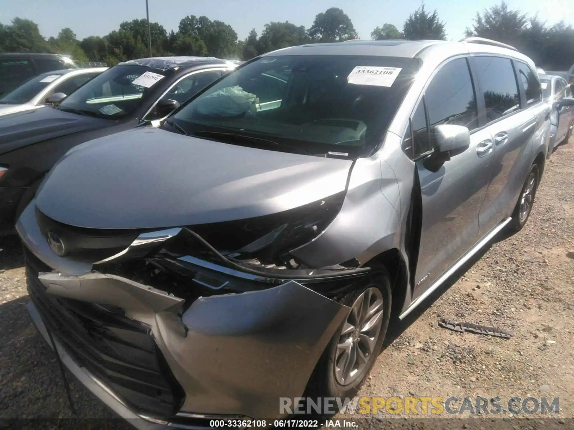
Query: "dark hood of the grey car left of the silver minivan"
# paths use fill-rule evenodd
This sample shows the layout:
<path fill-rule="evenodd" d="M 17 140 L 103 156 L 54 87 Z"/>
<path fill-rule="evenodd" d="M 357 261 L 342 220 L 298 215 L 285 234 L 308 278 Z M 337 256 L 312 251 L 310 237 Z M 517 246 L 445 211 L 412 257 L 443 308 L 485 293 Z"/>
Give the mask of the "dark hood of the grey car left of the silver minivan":
<path fill-rule="evenodd" d="M 50 107 L 0 116 L 0 154 L 80 131 L 115 125 L 113 120 L 63 112 Z"/>

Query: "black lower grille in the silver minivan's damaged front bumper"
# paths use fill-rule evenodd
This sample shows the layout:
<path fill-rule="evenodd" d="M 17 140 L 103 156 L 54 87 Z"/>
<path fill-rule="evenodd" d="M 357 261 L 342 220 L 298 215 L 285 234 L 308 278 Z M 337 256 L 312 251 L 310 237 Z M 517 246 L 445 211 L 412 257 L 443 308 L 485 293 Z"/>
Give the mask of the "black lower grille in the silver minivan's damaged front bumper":
<path fill-rule="evenodd" d="M 38 272 L 51 269 L 27 250 L 25 257 L 30 298 L 76 363 L 135 412 L 169 418 L 179 411 L 183 389 L 149 330 L 119 309 L 46 294 Z"/>

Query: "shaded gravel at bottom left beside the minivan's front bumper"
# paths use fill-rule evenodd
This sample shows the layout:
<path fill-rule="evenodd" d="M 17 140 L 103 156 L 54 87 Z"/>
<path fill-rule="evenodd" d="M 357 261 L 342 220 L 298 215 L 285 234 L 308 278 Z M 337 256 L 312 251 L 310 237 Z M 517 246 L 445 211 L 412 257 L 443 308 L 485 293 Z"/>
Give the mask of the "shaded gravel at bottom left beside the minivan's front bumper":
<path fill-rule="evenodd" d="M 72 415 L 56 357 L 32 323 L 28 301 L 0 305 L 0 428 L 133 429 L 67 372 Z"/>

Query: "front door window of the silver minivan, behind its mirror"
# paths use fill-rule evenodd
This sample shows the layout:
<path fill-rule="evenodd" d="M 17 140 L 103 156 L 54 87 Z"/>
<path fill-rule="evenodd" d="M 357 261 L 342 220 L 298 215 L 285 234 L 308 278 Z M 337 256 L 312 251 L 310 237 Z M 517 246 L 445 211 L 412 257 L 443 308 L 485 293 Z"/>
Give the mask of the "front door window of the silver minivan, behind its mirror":
<path fill-rule="evenodd" d="M 436 73 L 425 91 L 430 128 L 453 124 L 474 130 L 478 113 L 466 58 L 449 61 Z"/>

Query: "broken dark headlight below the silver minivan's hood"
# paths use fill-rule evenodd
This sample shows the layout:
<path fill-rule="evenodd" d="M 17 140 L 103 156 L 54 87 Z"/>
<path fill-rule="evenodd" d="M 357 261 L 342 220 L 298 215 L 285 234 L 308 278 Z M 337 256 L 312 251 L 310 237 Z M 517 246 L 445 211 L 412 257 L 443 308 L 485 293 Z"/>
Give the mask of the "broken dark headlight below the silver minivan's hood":
<path fill-rule="evenodd" d="M 298 264 L 289 251 L 315 239 L 331 224 L 343 205 L 344 195 L 344 192 L 333 194 L 272 215 L 188 228 L 229 259 L 294 268 Z M 192 236 L 181 239 L 178 253 L 208 252 Z"/>

